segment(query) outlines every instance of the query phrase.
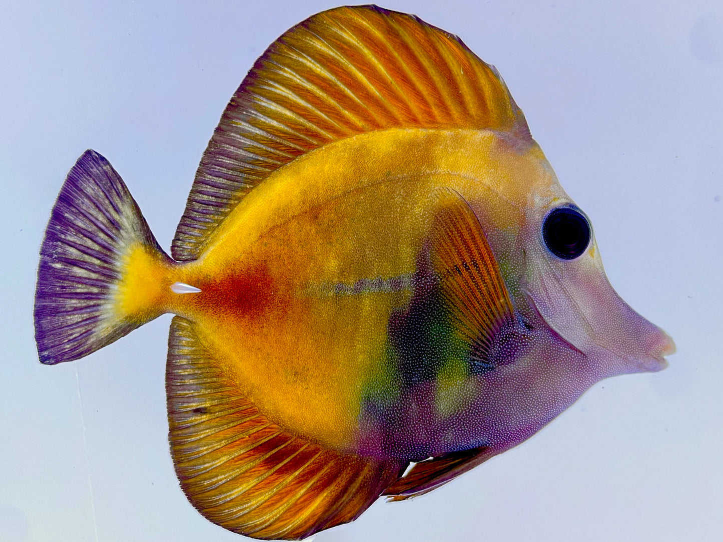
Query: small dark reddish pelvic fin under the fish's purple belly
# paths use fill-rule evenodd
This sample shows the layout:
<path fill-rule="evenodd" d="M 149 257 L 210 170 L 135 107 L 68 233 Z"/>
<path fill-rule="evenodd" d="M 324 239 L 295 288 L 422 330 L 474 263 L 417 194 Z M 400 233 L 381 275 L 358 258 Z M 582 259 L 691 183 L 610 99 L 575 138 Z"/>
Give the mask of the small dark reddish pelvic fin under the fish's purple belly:
<path fill-rule="evenodd" d="M 389 486 L 384 494 L 392 501 L 403 501 L 429 493 L 488 460 L 492 455 L 494 454 L 488 447 L 482 446 L 420 461 L 409 469 L 406 476 Z"/>

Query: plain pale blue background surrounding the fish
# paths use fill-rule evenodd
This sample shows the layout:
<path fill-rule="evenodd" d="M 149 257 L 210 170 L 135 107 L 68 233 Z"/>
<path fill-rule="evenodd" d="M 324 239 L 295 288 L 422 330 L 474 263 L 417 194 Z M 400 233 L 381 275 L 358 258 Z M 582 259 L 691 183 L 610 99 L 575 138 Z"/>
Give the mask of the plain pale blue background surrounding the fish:
<path fill-rule="evenodd" d="M 288 27 L 335 4 L 63 4 L 6 2 L 0 17 L 0 540 L 241 540 L 202 519 L 174 476 L 170 317 L 77 363 L 41 366 L 37 251 L 87 147 L 115 165 L 167 249 L 247 69 Z M 597 385 L 443 489 L 377 502 L 317 541 L 723 540 L 723 5 L 385 6 L 457 33 L 497 66 L 594 221 L 612 284 L 679 353 L 662 373 Z"/>

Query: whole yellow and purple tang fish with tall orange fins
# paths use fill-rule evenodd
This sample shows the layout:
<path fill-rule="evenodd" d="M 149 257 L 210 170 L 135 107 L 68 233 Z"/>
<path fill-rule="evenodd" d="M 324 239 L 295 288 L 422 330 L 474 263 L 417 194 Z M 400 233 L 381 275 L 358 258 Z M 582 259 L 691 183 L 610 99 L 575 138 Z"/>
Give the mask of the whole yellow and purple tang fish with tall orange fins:
<path fill-rule="evenodd" d="M 170 255 L 106 158 L 71 168 L 40 248 L 40 362 L 167 313 L 181 489 L 260 539 L 433 491 L 675 352 L 610 285 L 497 69 L 376 6 L 260 56 Z"/>

